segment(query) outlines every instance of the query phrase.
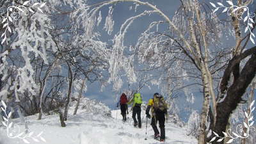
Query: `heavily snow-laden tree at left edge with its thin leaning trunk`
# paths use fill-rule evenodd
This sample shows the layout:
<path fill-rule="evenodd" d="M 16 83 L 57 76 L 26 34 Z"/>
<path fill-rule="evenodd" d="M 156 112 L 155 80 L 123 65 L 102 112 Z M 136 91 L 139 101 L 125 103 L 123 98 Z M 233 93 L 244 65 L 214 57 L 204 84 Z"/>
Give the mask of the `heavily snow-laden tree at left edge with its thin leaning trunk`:
<path fill-rule="evenodd" d="M 45 3 L 1 1 L 0 6 L 0 99 L 13 100 L 24 122 L 20 99 L 24 93 L 36 95 L 38 90 L 33 79 L 35 70 L 31 66 L 31 57 L 42 58 L 47 63 L 46 49 L 54 48 L 47 28 L 49 17 L 42 12 Z M 26 122 L 24 124 L 28 129 Z"/>

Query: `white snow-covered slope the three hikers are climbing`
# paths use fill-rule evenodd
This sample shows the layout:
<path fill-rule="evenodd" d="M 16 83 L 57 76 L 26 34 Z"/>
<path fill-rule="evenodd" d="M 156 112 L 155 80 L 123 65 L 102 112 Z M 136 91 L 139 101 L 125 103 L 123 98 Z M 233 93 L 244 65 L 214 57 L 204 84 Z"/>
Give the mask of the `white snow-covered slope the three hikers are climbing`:
<path fill-rule="evenodd" d="M 70 109 L 70 111 L 72 111 Z M 27 117 L 29 130 L 33 131 L 32 136 L 36 136 L 44 131 L 42 137 L 46 142 L 36 138 L 26 138 L 29 143 L 47 144 L 143 144 L 160 143 L 154 140 L 154 132 L 148 120 L 147 140 L 145 140 L 145 111 L 141 112 L 142 128 L 134 128 L 131 113 L 127 116 L 127 122 L 122 122 L 120 110 L 111 111 L 112 117 L 92 114 L 80 109 L 77 115 L 68 116 L 67 127 L 60 126 L 58 115 L 44 116 L 42 120 L 36 120 L 36 116 Z M 20 125 L 16 120 L 15 124 Z M 10 139 L 6 135 L 6 129 L 0 130 L 1 144 L 24 143 L 19 138 Z M 195 144 L 195 138 L 186 136 L 186 130 L 172 123 L 166 123 L 166 141 L 172 144 Z"/>

